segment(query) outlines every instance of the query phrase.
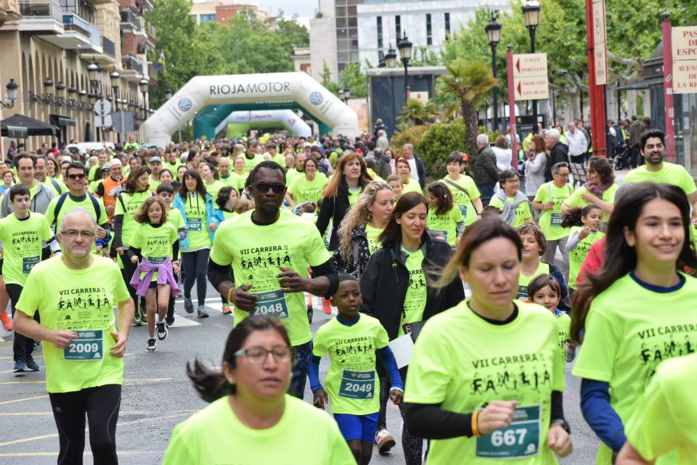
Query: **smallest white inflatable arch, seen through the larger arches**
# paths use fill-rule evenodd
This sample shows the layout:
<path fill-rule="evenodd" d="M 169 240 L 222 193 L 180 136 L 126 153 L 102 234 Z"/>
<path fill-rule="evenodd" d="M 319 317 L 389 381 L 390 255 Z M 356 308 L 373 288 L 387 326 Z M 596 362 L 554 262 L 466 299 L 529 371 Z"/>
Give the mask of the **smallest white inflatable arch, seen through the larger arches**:
<path fill-rule="evenodd" d="M 310 130 L 307 123 L 289 109 L 232 112 L 215 127 L 215 134 L 227 128 L 228 139 L 234 139 L 235 137 L 240 137 L 247 130 L 268 126 L 281 126 L 296 136 L 307 137 L 312 135 L 312 130 Z M 234 132 L 232 137 L 231 132 Z"/>

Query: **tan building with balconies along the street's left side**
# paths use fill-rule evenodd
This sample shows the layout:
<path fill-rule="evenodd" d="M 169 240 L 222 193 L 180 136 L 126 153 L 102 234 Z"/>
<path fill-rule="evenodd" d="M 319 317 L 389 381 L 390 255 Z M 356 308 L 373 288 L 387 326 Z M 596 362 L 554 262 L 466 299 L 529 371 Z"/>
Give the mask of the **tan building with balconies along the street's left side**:
<path fill-rule="evenodd" d="M 0 27 L 0 85 L 11 79 L 19 84 L 17 102 L 0 110 L 0 117 L 24 114 L 57 125 L 57 142 L 86 139 L 119 142 L 112 128 L 100 128 L 89 94 L 111 99 L 112 108 L 147 114 L 148 99 L 138 83 L 155 85 L 148 51 L 155 49 L 155 31 L 144 18 L 152 0 L 0 0 L 4 15 Z M 5 8 L 7 7 L 7 8 Z M 3 15 L 0 14 L 0 22 Z M 95 88 L 87 67 L 98 63 L 102 78 Z M 118 95 L 109 74 L 119 73 Z M 52 84 L 52 85 L 47 85 Z M 130 106 L 128 103 L 130 102 Z M 142 109 L 141 109 L 142 107 Z M 142 137 L 137 127 L 128 135 Z M 8 139 L 3 138 L 6 154 Z M 26 139 L 26 148 L 36 149 L 54 137 Z"/>

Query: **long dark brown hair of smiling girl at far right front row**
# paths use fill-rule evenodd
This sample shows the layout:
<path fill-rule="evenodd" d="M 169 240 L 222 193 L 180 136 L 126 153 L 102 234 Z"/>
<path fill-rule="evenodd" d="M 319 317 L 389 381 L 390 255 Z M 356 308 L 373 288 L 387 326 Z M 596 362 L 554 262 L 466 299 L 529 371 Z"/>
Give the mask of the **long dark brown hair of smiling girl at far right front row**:
<path fill-rule="evenodd" d="M 636 268 L 636 249 L 627 243 L 625 228 L 634 231 L 644 206 L 654 199 L 665 199 L 680 210 L 685 240 L 680 255 L 675 261 L 675 269 L 683 270 L 687 266 L 693 270 L 693 273 L 697 270 L 697 256 L 690 241 L 690 204 L 684 191 L 669 184 L 636 183 L 632 185 L 617 201 L 610 216 L 605 231 L 605 259 L 602 268 L 597 273 L 588 273 L 588 279 L 579 283 L 574 294 L 569 336 L 576 342 L 581 342 L 581 331 L 585 326 L 585 317 L 588 316 L 593 297 Z"/>

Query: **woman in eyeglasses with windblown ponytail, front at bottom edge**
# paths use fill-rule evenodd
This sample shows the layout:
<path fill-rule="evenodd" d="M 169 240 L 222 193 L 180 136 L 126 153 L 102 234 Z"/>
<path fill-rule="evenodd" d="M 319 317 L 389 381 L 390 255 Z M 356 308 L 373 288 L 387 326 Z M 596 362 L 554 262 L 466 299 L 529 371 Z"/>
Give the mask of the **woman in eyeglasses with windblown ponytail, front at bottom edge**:
<path fill-rule="evenodd" d="M 243 319 L 230 332 L 222 369 L 199 360 L 187 367 L 194 388 L 211 402 L 172 432 L 164 465 L 355 464 L 336 422 L 286 394 L 293 349 L 277 319 Z"/>

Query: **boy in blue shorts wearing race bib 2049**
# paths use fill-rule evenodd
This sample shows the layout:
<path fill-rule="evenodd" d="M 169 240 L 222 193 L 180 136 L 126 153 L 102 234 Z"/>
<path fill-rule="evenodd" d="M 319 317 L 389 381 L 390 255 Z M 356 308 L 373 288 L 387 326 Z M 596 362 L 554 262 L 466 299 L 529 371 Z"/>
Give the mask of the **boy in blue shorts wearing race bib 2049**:
<path fill-rule="evenodd" d="M 363 298 L 358 280 L 339 275 L 339 288 L 331 298 L 339 314 L 319 328 L 314 337 L 309 368 L 314 405 L 324 409 L 327 402 L 355 461 L 367 465 L 373 453 L 373 441 L 380 409 L 380 383 L 376 382 L 375 352 L 390 375 L 390 398 L 401 403 L 401 382 L 395 356 L 388 346 L 388 333 L 381 323 L 367 314 L 359 314 Z M 330 367 L 325 391 L 319 381 L 319 360 L 329 353 Z"/>

